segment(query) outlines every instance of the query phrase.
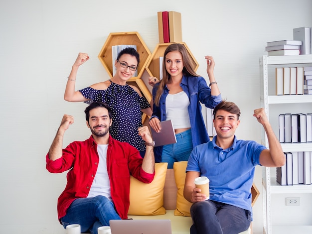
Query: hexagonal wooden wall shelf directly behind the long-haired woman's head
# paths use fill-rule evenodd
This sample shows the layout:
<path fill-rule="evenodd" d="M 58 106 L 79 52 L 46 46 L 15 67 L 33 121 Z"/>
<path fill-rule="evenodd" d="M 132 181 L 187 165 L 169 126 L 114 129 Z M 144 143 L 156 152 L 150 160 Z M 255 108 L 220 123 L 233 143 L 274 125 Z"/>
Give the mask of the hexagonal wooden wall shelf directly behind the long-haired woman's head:
<path fill-rule="evenodd" d="M 186 45 L 185 42 L 179 42 L 180 44 L 183 44 L 189 53 L 190 57 L 193 60 L 193 65 L 194 65 L 194 70 L 196 71 L 199 64 L 197 63 L 196 59 L 194 58 L 192 52 L 189 50 L 188 46 Z M 150 74 L 150 76 L 155 76 L 159 78 L 159 57 L 163 56 L 164 51 L 172 43 L 159 43 L 156 45 L 156 48 L 154 52 L 152 53 L 152 56 L 150 57 L 150 60 L 148 61 L 148 64 L 146 66 L 146 70 Z"/>

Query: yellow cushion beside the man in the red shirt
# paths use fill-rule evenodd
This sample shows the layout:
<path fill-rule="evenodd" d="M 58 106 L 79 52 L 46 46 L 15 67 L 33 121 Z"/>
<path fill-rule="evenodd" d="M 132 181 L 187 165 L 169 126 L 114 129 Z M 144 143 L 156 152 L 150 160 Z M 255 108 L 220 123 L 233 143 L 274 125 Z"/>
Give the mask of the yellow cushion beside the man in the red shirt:
<path fill-rule="evenodd" d="M 130 178 L 130 207 L 128 215 L 164 215 L 163 186 L 168 163 L 155 163 L 155 177 L 152 183 L 143 183 Z"/>

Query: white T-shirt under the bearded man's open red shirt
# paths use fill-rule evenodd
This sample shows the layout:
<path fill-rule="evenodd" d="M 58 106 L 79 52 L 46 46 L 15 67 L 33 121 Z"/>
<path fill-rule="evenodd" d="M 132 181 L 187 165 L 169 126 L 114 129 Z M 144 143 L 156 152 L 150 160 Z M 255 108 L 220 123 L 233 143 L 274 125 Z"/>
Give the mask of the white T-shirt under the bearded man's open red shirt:
<path fill-rule="evenodd" d="M 88 194 L 88 198 L 93 198 L 98 195 L 107 197 L 112 201 L 111 184 L 107 172 L 107 148 L 108 144 L 98 144 L 97 150 L 99 154 L 99 165 L 94 175 L 94 179 Z"/>

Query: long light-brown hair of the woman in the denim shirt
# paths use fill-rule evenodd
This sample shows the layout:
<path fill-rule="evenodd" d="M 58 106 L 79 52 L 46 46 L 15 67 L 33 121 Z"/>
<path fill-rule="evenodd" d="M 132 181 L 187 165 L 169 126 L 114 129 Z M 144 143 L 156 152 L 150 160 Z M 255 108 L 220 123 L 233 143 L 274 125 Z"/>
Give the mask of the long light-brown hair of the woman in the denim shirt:
<path fill-rule="evenodd" d="M 194 71 L 195 68 L 195 64 L 193 63 L 189 53 L 187 52 L 185 46 L 183 44 L 179 44 L 179 43 L 173 43 L 168 45 L 168 47 L 166 48 L 166 50 L 164 51 L 163 54 L 163 62 L 162 62 L 162 79 L 159 82 L 159 86 L 156 92 L 156 96 L 155 96 L 155 105 L 158 107 L 159 106 L 159 100 L 160 100 L 160 96 L 163 92 L 163 88 L 165 87 L 165 85 L 167 84 L 168 80 L 170 79 L 170 74 L 167 72 L 166 67 L 165 67 L 165 61 L 166 61 L 166 55 L 169 52 L 172 51 L 178 51 L 181 53 L 182 55 L 182 61 L 183 61 L 183 70 L 182 73 L 183 75 L 190 75 L 190 76 L 196 76 L 198 77 L 199 75 L 196 74 L 196 72 Z"/>

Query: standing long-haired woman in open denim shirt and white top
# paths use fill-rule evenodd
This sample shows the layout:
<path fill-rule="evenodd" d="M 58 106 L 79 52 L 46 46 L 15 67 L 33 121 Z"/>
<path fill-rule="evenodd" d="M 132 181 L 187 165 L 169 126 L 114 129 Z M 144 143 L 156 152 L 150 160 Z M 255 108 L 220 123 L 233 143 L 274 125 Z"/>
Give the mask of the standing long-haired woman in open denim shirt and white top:
<path fill-rule="evenodd" d="M 197 75 L 183 44 L 170 44 L 163 56 L 163 75 L 159 83 L 150 78 L 153 88 L 153 115 L 150 126 L 159 132 L 159 121 L 171 119 L 177 142 L 155 148 L 156 162 L 168 162 L 168 168 L 176 161 L 187 161 L 192 149 L 209 141 L 201 104 L 213 109 L 222 101 L 215 81 L 214 60 L 205 56 L 210 84 Z"/>

